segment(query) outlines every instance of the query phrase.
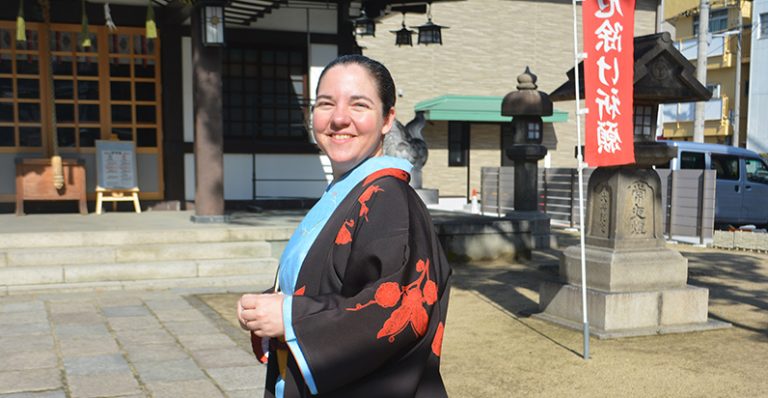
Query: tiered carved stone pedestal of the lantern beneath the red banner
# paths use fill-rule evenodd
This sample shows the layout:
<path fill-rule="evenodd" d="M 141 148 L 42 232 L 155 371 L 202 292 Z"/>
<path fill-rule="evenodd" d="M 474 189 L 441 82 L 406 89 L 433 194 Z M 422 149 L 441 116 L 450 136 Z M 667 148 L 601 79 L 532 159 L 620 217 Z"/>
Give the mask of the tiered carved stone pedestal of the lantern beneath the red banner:
<path fill-rule="evenodd" d="M 709 291 L 690 286 L 688 260 L 666 247 L 661 180 L 651 165 L 672 155 L 635 143 L 637 164 L 600 167 L 588 186 L 587 312 L 600 338 L 687 332 L 729 326 L 707 319 Z M 581 248 L 565 250 L 560 283 L 539 291 L 538 317 L 582 329 Z"/>

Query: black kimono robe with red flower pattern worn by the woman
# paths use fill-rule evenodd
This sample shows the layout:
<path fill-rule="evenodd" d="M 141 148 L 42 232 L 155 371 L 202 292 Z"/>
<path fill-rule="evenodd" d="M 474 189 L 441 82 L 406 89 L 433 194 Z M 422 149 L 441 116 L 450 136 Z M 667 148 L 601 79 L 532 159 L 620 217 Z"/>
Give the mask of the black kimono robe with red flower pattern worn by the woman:
<path fill-rule="evenodd" d="M 446 396 L 451 269 L 408 179 L 378 168 L 317 233 L 283 304 L 288 344 L 270 341 L 265 396 Z"/>

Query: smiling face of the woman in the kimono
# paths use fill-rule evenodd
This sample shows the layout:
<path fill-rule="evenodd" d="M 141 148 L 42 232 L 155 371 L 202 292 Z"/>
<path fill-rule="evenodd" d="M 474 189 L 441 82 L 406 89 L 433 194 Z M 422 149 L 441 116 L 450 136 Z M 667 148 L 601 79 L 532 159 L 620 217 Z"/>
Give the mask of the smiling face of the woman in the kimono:
<path fill-rule="evenodd" d="M 331 159 L 335 178 L 382 154 L 395 110 L 384 117 L 381 108 L 376 81 L 364 67 L 341 64 L 325 72 L 317 88 L 312 126 L 317 144 Z"/>

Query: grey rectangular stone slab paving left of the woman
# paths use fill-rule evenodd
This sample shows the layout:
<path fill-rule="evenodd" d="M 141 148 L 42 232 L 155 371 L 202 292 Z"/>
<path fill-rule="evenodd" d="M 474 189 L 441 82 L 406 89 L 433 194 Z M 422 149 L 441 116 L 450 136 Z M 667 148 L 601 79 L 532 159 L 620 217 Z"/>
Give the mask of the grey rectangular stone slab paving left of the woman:
<path fill-rule="evenodd" d="M 0 298 L 0 397 L 257 397 L 247 336 L 195 291 Z"/>

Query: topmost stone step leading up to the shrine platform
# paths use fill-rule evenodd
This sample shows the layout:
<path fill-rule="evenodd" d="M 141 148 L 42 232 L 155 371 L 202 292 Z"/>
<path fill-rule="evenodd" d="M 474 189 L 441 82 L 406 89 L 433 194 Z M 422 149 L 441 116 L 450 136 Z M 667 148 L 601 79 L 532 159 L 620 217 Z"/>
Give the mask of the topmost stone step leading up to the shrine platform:
<path fill-rule="evenodd" d="M 156 243 L 285 241 L 290 226 L 227 226 L 188 229 L 0 233 L 0 251 L 38 247 L 143 245 Z M 0 265 L 2 265 L 0 263 Z"/>

